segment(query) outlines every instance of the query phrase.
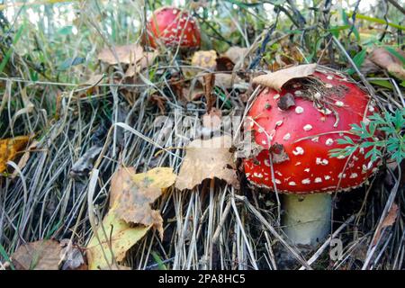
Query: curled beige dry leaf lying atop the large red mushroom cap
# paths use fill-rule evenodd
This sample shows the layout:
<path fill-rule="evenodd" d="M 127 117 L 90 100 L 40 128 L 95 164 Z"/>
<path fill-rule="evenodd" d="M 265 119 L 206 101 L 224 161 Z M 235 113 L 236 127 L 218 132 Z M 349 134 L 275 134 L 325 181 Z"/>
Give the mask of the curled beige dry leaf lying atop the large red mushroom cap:
<path fill-rule="evenodd" d="M 295 78 L 310 76 L 315 72 L 316 64 L 305 64 L 289 67 L 253 78 L 253 83 L 271 87 L 280 91 L 285 83 Z"/>

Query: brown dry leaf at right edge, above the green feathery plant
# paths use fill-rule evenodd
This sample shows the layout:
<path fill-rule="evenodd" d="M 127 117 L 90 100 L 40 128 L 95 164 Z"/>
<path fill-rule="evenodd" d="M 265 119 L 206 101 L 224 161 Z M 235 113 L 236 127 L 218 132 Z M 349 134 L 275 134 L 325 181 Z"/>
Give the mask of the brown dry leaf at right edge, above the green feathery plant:
<path fill-rule="evenodd" d="M 399 55 L 405 57 L 405 53 L 399 49 L 395 50 Z M 362 73 L 377 73 L 380 69 L 384 68 L 392 74 L 402 80 L 405 79 L 405 68 L 400 58 L 390 53 L 385 48 L 376 48 L 365 58 L 365 61 L 361 67 Z"/>

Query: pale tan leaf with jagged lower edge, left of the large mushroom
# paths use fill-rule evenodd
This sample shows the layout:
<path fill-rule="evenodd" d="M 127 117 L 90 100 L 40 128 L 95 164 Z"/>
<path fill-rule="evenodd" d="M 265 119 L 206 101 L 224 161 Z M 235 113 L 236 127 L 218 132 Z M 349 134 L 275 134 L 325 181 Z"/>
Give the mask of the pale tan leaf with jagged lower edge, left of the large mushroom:
<path fill-rule="evenodd" d="M 216 177 L 238 188 L 236 166 L 229 152 L 230 144 L 229 136 L 193 140 L 186 148 L 175 187 L 179 190 L 193 189 L 202 180 Z"/>

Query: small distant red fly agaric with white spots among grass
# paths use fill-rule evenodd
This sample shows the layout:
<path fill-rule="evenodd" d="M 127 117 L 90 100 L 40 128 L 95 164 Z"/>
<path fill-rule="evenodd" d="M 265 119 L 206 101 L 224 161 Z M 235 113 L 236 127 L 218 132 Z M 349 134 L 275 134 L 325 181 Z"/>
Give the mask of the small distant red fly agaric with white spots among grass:
<path fill-rule="evenodd" d="M 175 7 L 157 9 L 148 20 L 147 32 L 153 48 L 157 48 L 157 42 L 168 47 L 200 47 L 201 36 L 197 23 L 187 12 Z"/>

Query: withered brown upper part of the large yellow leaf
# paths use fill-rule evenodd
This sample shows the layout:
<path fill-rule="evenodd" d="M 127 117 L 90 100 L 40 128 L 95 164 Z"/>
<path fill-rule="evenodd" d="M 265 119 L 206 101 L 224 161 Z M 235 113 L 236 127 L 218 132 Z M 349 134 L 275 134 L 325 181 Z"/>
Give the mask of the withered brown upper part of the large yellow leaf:
<path fill-rule="evenodd" d="M 172 168 L 157 167 L 136 174 L 133 167 L 123 167 L 112 176 L 112 210 L 126 222 L 154 226 L 163 238 L 163 219 L 150 205 L 162 194 L 162 189 L 172 184 L 175 184 Z"/>

